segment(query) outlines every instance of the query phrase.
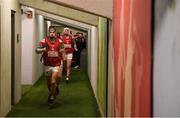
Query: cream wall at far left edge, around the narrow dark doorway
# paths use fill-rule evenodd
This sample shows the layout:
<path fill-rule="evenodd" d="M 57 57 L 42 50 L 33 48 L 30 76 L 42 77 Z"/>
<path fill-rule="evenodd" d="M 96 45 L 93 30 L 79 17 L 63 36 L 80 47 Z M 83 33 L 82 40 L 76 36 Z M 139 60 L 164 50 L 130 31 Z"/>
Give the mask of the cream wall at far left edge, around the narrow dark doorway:
<path fill-rule="evenodd" d="M 21 98 L 21 38 L 17 41 L 17 34 L 21 34 L 20 6 L 18 0 L 1 0 L 1 46 L 0 46 L 0 116 L 5 116 L 11 109 L 11 10 L 15 13 L 15 103 Z"/>

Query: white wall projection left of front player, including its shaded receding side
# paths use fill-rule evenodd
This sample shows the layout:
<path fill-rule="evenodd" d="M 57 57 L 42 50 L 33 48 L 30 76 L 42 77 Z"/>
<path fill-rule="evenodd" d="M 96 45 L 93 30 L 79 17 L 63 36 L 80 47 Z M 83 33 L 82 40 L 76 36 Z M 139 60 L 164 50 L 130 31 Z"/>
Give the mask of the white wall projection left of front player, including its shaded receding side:
<path fill-rule="evenodd" d="M 39 41 L 45 36 L 44 17 L 35 15 L 32 8 L 22 7 L 33 11 L 32 19 L 22 15 L 22 81 L 24 85 L 33 85 L 43 74 L 41 55 L 35 53 Z M 27 63 L 28 62 L 28 63 Z"/>

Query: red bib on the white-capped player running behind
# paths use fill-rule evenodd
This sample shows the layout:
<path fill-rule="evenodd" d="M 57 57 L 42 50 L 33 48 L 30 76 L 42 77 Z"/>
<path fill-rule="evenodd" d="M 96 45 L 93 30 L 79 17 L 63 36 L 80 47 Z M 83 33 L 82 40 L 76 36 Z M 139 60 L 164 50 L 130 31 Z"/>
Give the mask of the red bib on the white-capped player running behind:
<path fill-rule="evenodd" d="M 65 52 L 66 53 L 73 53 L 73 39 L 72 36 L 65 37 L 64 35 L 61 36 L 62 42 L 64 44 Z"/>

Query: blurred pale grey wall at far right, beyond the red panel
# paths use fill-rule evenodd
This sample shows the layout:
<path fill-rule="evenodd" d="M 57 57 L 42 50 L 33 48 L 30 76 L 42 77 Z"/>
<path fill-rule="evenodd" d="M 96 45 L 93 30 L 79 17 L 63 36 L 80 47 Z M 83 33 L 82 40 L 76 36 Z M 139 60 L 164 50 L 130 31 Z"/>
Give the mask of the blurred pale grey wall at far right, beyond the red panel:
<path fill-rule="evenodd" d="M 154 116 L 180 116 L 180 1 L 155 2 Z"/>

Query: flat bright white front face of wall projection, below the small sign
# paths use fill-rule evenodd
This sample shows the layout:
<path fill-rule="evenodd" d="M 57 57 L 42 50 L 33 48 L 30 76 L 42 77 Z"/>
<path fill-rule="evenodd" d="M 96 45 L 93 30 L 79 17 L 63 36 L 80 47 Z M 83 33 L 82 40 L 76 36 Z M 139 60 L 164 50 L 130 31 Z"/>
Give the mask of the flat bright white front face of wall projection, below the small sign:
<path fill-rule="evenodd" d="M 27 9 L 27 8 L 24 8 Z M 32 19 L 28 19 L 26 14 L 22 18 L 22 84 L 34 83 L 33 66 L 34 66 L 34 39 L 35 39 L 35 14 L 33 9 Z"/>

